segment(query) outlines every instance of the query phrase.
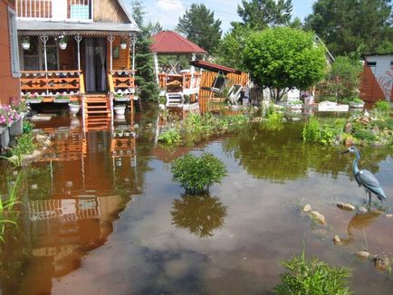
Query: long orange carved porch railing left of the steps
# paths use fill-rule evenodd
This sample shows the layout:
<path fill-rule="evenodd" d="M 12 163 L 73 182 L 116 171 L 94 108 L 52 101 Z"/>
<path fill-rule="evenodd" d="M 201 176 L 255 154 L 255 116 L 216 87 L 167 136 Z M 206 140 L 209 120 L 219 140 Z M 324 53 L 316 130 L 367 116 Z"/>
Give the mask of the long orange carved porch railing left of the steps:
<path fill-rule="evenodd" d="M 22 95 L 54 97 L 84 93 L 81 71 L 21 71 Z"/>

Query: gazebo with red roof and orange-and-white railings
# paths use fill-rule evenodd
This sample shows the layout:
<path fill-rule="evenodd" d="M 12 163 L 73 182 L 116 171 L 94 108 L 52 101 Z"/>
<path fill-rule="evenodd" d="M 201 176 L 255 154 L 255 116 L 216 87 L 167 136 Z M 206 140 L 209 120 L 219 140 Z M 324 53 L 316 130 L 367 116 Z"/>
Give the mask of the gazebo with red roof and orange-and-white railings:
<path fill-rule="evenodd" d="M 157 33 L 152 39 L 150 50 L 154 55 L 154 70 L 161 89 L 160 96 L 166 97 L 167 107 L 183 107 L 185 96 L 190 97 L 191 102 L 197 101 L 201 74 L 193 66 L 189 70 L 177 71 L 173 64 L 170 65 L 170 73 L 159 72 L 158 55 L 191 55 L 191 60 L 195 61 L 197 54 L 205 55 L 206 51 L 173 31 Z"/>

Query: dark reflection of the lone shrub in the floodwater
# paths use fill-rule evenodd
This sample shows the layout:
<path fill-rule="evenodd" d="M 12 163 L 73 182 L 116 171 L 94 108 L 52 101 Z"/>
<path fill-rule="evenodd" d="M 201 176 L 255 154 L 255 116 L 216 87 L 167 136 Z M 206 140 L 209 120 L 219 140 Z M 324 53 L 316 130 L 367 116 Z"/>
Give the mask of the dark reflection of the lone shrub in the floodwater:
<path fill-rule="evenodd" d="M 216 196 L 183 195 L 173 201 L 170 214 L 172 224 L 177 228 L 185 228 L 199 238 L 206 238 L 222 228 L 226 207 Z"/>

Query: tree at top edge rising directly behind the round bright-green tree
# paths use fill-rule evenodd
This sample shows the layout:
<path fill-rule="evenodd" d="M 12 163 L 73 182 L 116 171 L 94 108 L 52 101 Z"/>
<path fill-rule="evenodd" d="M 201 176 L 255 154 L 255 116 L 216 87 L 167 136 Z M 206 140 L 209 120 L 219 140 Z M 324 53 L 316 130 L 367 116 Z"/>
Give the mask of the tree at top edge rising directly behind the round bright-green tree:
<path fill-rule="evenodd" d="M 237 6 L 237 14 L 244 25 L 254 30 L 287 25 L 291 21 L 292 0 L 242 0 L 242 6 Z"/>

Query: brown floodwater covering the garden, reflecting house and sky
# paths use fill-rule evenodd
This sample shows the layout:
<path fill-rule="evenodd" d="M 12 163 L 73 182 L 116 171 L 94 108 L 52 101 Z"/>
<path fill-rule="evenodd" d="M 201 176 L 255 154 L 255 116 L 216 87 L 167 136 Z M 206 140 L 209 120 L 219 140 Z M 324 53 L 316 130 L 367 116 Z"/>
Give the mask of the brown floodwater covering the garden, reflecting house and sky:
<path fill-rule="evenodd" d="M 350 267 L 356 294 L 393 293 L 391 274 L 354 256 L 393 256 L 393 219 L 336 207 L 365 200 L 350 154 L 303 144 L 301 122 L 253 125 L 194 148 L 158 147 L 154 122 L 138 119 L 135 140 L 121 143 L 110 130 L 83 132 L 75 120 L 36 124 L 53 147 L 26 179 L 21 223 L 0 254 L 2 294 L 272 294 L 280 262 L 303 248 L 308 258 Z M 392 150 L 360 150 L 391 213 Z M 210 195 L 183 195 L 169 162 L 205 151 L 228 174 Z M 307 203 L 327 225 L 300 212 Z"/>

